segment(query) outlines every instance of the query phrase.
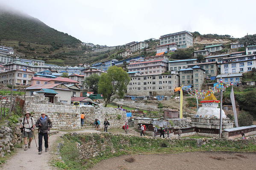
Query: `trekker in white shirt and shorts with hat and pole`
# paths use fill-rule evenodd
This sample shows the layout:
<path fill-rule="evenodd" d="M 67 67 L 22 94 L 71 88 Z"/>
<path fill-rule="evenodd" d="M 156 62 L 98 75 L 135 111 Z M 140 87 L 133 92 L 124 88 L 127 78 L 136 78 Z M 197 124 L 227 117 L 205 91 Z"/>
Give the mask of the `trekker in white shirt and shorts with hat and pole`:
<path fill-rule="evenodd" d="M 35 121 L 34 118 L 31 117 L 31 114 L 29 112 L 26 112 L 25 114 L 26 117 L 22 119 L 20 129 L 22 132 L 22 137 L 24 138 L 24 144 L 25 144 L 25 149 L 27 150 L 30 148 L 31 141 L 33 138 L 33 131 L 35 128 Z M 27 138 L 29 138 L 29 144 L 27 144 Z"/>

